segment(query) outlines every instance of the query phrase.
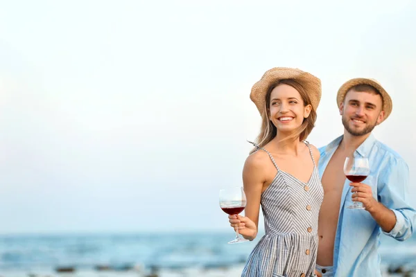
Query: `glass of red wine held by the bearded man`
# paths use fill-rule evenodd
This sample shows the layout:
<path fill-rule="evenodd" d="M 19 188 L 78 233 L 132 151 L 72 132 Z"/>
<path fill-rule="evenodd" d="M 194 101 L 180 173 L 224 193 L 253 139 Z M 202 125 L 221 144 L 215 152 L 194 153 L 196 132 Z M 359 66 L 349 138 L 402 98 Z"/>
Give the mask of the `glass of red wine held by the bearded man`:
<path fill-rule="evenodd" d="M 367 158 L 350 158 L 347 157 L 344 163 L 344 173 L 349 181 L 353 183 L 361 183 L 370 174 L 370 166 Z M 363 203 L 354 202 L 347 208 L 363 209 Z"/>

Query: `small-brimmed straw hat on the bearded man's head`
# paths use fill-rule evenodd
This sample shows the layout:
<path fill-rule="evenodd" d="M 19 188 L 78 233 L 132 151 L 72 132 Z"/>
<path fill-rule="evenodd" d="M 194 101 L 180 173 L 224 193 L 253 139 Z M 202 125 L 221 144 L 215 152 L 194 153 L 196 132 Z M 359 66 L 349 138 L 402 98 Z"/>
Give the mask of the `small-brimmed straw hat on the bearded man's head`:
<path fill-rule="evenodd" d="M 377 91 L 380 92 L 381 98 L 383 99 L 383 111 L 384 111 L 384 120 L 390 116 L 393 108 L 392 98 L 388 95 L 387 91 L 381 87 L 381 84 L 374 79 L 367 79 L 367 78 L 355 78 L 351 79 L 345 84 L 343 84 L 340 89 L 338 90 L 338 94 L 336 95 L 336 103 L 338 104 L 338 108 L 340 107 L 341 103 L 344 102 L 345 94 L 351 89 L 352 87 L 356 86 L 357 84 L 368 84 Z M 381 121 L 381 122 L 383 122 Z"/>

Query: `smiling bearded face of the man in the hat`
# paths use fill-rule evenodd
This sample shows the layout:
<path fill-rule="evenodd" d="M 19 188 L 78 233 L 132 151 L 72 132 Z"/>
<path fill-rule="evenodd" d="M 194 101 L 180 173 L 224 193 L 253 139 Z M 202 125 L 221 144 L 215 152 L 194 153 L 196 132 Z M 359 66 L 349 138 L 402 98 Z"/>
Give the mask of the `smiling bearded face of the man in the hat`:
<path fill-rule="evenodd" d="M 349 134 L 364 136 L 372 132 L 384 118 L 383 100 L 376 91 L 350 89 L 340 105 L 343 125 Z"/>

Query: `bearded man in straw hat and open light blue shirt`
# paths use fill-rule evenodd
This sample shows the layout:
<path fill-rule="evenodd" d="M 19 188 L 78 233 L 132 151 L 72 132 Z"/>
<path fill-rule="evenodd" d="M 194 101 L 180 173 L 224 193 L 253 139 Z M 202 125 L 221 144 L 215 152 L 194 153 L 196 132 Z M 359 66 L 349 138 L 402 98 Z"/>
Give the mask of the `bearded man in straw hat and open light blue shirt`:
<path fill-rule="evenodd" d="M 375 80 L 357 78 L 340 87 L 337 103 L 344 134 L 320 148 L 324 201 L 318 225 L 317 273 L 381 276 L 379 234 L 406 240 L 416 222 L 416 211 L 408 204 L 408 166 L 372 134 L 390 115 L 392 100 Z M 362 183 L 345 178 L 346 157 L 368 159 L 370 175 Z M 361 202 L 365 210 L 347 208 L 353 202 Z"/>

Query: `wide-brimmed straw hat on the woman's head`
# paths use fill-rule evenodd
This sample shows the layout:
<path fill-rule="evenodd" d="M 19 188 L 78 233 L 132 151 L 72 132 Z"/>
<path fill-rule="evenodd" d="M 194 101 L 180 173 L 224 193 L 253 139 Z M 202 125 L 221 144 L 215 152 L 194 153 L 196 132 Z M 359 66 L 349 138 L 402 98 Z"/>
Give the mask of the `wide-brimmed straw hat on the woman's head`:
<path fill-rule="evenodd" d="M 311 73 L 304 72 L 300 69 L 291 69 L 288 67 L 275 67 L 269 69 L 263 74 L 259 82 L 255 83 L 250 93 L 250 99 L 254 102 L 260 114 L 266 107 L 266 93 L 271 84 L 285 79 L 292 79 L 298 82 L 311 97 L 311 105 L 316 111 L 321 98 L 320 79 Z"/>

